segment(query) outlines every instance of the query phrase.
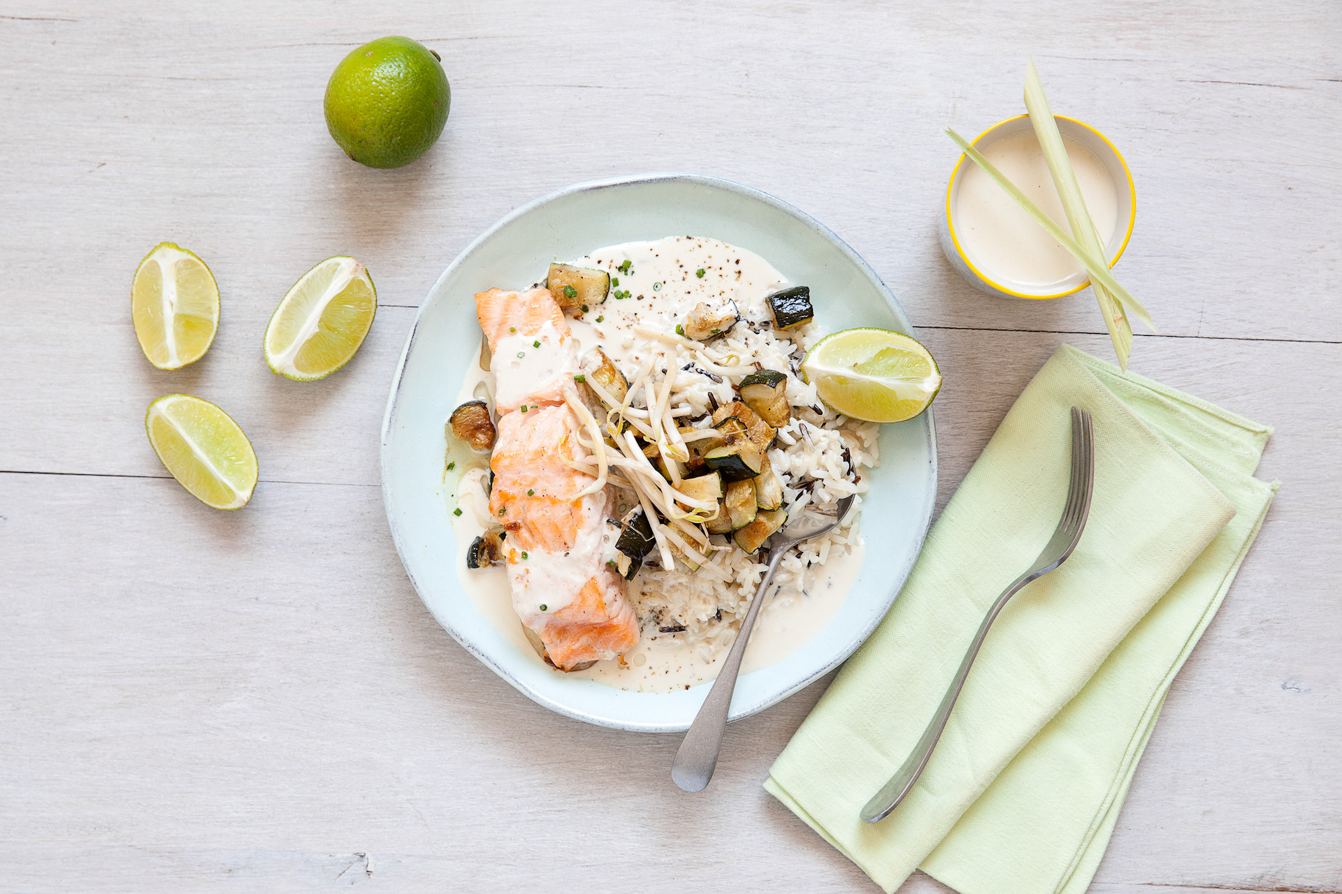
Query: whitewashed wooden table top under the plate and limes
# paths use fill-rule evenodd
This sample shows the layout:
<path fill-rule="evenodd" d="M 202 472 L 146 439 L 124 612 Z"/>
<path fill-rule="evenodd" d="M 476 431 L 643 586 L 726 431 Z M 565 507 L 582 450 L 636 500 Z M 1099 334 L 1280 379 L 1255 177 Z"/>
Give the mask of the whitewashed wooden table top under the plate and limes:
<path fill-rule="evenodd" d="M 0 0 L 0 890 L 874 891 L 760 788 L 828 681 L 679 792 L 678 736 L 552 714 L 439 629 L 388 535 L 378 425 L 475 235 L 570 182 L 692 170 L 812 213 L 900 298 L 946 375 L 945 504 L 1059 342 L 1110 353 L 1088 291 L 989 300 L 935 243 L 941 129 L 1019 113 L 1027 52 L 1135 173 L 1119 273 L 1162 334 L 1133 367 L 1275 425 L 1283 483 L 1094 890 L 1342 890 L 1342 11 L 1025 5 Z M 393 172 L 321 111 L 385 34 L 454 91 Z M 223 292 L 177 373 L 127 306 L 161 240 Z M 280 379 L 266 320 L 336 253 L 373 272 L 373 332 L 330 379 Z M 142 418 L 172 391 L 251 436 L 246 509 L 165 477 Z"/>

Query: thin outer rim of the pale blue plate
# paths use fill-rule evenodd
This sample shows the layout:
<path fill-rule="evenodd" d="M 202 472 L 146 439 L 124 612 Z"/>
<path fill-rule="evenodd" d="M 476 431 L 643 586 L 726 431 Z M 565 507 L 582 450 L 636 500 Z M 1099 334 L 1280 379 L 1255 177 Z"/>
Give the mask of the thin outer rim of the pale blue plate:
<path fill-rule="evenodd" d="M 501 666 L 498 662 L 495 662 L 493 658 L 490 658 L 472 641 L 470 641 L 468 638 L 463 637 L 452 626 L 450 626 L 450 625 L 444 623 L 442 619 L 439 619 L 439 617 L 429 607 L 428 600 L 424 598 L 424 591 L 420 587 L 420 582 L 415 578 L 415 572 L 412 571 L 411 564 L 408 562 L 408 558 L 405 555 L 405 550 L 403 547 L 401 537 L 399 536 L 399 525 L 397 525 L 396 517 L 395 517 L 395 515 L 392 512 L 392 489 L 391 489 L 391 485 L 388 483 L 389 481 L 389 476 L 388 476 L 388 450 L 389 450 L 389 444 L 391 444 L 392 418 L 396 414 L 396 405 L 397 405 L 397 397 L 400 394 L 401 378 L 404 377 L 404 373 L 405 373 L 405 362 L 409 358 L 411 348 L 415 346 L 415 338 L 419 334 L 419 326 L 420 326 L 420 322 L 421 322 L 421 319 L 424 316 L 424 311 L 428 308 L 429 300 L 432 299 L 433 294 L 437 292 L 439 287 L 443 285 L 443 283 L 452 273 L 455 273 L 459 267 L 462 267 L 463 264 L 466 264 L 466 261 L 471 257 L 471 255 L 474 255 L 497 232 L 499 232 L 501 229 L 503 229 L 505 227 L 507 227 L 509 224 L 511 224 L 514 220 L 517 220 L 517 218 L 519 218 L 519 217 L 522 217 L 525 214 L 531 213 L 537 208 L 541 208 L 541 206 L 548 205 L 550 202 L 558 201 L 558 200 L 561 200 L 561 198 L 564 198 L 566 196 L 572 196 L 572 194 L 577 194 L 577 193 L 585 193 L 585 192 L 599 192 L 599 190 L 603 190 L 603 189 L 611 189 L 611 188 L 619 188 L 619 186 L 632 186 L 632 185 L 654 184 L 654 182 L 664 182 L 664 181 L 680 181 L 680 182 L 688 182 L 688 184 L 694 184 L 694 185 L 699 185 L 699 186 L 710 186 L 710 188 L 714 188 L 714 189 L 723 189 L 726 192 L 731 192 L 731 193 L 737 193 L 737 194 L 741 194 L 741 196 L 746 196 L 746 197 L 753 198 L 756 201 L 761 201 L 761 202 L 764 202 L 766 205 L 772 205 L 773 208 L 784 212 L 785 214 L 789 214 L 789 216 L 797 218 L 798 221 L 801 221 L 803 224 L 805 224 L 807 227 L 809 227 L 811 229 L 813 229 L 817 236 L 820 236 L 821 239 L 824 239 L 828 243 L 831 243 L 835 248 L 837 248 L 839 252 L 843 253 L 848 259 L 848 261 L 863 276 L 866 276 L 871 281 L 871 284 L 875 287 L 878 295 L 880 295 L 880 298 L 884 300 L 886 306 L 895 315 L 895 320 L 905 330 L 907 330 L 910 334 L 914 332 L 913 323 L 910 323 L 909 316 L 905 314 L 903 307 L 899 304 L 899 300 L 895 298 L 894 292 L 890 291 L 890 288 L 880 279 L 880 276 L 876 275 L 876 272 L 871 268 L 871 265 L 860 255 L 858 255 L 858 252 L 855 252 L 852 249 L 852 247 L 848 245 L 848 243 L 845 243 L 843 239 L 839 237 L 837 233 L 835 233 L 832 229 L 829 229 L 828 227 L 825 227 L 824 224 L 821 224 L 820 221 L 817 221 L 816 218 L 813 218 L 811 214 L 807 214 L 801 209 L 798 209 L 794 205 L 790 205 L 790 204 L 782 201 L 781 198 L 777 198 L 776 196 L 770 196 L 769 193 L 765 193 L 765 192 L 762 192 L 760 189 L 756 189 L 753 186 L 746 186 L 745 184 L 738 184 L 738 182 L 731 181 L 731 180 L 725 180 L 725 178 L 721 178 L 721 177 L 711 177 L 711 176 L 707 176 L 707 174 L 694 174 L 694 173 L 680 173 L 680 172 L 652 173 L 652 174 L 632 174 L 632 176 L 621 176 L 621 177 L 609 177 L 609 178 L 603 178 L 603 180 L 582 181 L 582 182 L 570 184 L 570 185 L 564 186 L 561 189 L 557 189 L 554 192 L 546 193 L 545 196 L 534 198 L 534 200 L 531 200 L 531 201 L 529 201 L 529 202 L 526 202 L 523 205 L 518 205 L 517 208 L 514 208 L 513 210 L 510 210 L 507 214 L 505 214 L 503 217 L 501 217 L 498 221 L 495 221 L 490 228 L 487 228 L 479 236 L 476 236 L 474 240 L 471 240 L 471 243 L 467 244 L 467 247 L 463 248 L 462 252 L 455 259 L 452 259 L 452 263 L 447 265 L 447 268 L 437 276 L 437 279 L 433 280 L 433 284 L 429 285 L 428 292 L 424 296 L 424 300 L 420 303 L 420 306 L 415 311 L 415 319 L 411 322 L 409 332 L 405 336 L 405 344 L 401 347 L 401 355 L 400 355 L 400 358 L 396 362 L 396 371 L 392 375 L 392 386 L 391 386 L 391 393 L 389 393 L 388 399 L 386 399 L 386 409 L 382 413 L 382 425 L 381 425 L 381 430 L 380 430 L 381 444 L 378 446 L 378 477 L 380 477 L 381 491 L 382 491 L 382 512 L 386 516 L 388 528 L 389 528 L 391 535 L 392 535 L 392 543 L 396 546 L 396 556 L 400 559 L 401 568 L 404 568 L 405 576 L 409 578 L 411 586 L 415 588 L 415 595 L 417 595 L 420 598 L 420 602 L 424 603 L 425 609 L 429 609 L 429 615 L 433 617 L 433 621 L 437 622 L 437 625 L 440 627 L 443 627 L 443 630 L 446 630 L 447 634 L 450 637 L 452 637 L 452 639 L 456 641 L 458 645 L 460 645 L 463 649 L 466 649 L 470 654 L 472 654 L 476 659 L 479 659 L 486 667 L 488 667 L 495 674 L 498 674 L 499 677 L 502 677 L 505 681 L 509 682 L 509 685 L 511 685 L 514 689 L 517 689 L 518 692 L 521 692 L 523 696 L 526 696 L 527 698 L 530 698 L 535 704 L 538 704 L 538 705 L 541 705 L 544 708 L 548 708 L 548 709 L 550 709 L 550 710 L 553 710 L 553 712 L 556 712 L 558 714 L 562 714 L 565 717 L 570 717 L 573 720 L 580 720 L 580 721 L 584 721 L 584 722 L 588 722 L 588 724 L 593 724 L 593 725 L 597 725 L 597 726 L 607 726 L 607 728 L 611 728 L 611 729 L 624 729 L 624 730 L 629 730 L 629 732 L 648 732 L 648 733 L 684 732 L 686 729 L 690 728 L 690 724 L 688 722 L 683 722 L 683 724 L 682 722 L 671 722 L 671 724 L 631 722 L 628 720 L 621 720 L 621 718 L 616 718 L 616 717 L 603 717 L 603 716 L 599 716 L 599 714 L 593 714 L 593 713 L 588 713 L 588 712 L 584 712 L 584 710 L 573 709 L 573 708 L 570 708 L 570 706 L 568 706 L 568 705 L 565 705 L 562 702 L 558 702 L 558 701 L 556 701 L 556 700 L 553 700 L 553 698 L 550 698 L 548 696 L 544 696 L 544 694 L 541 694 L 541 693 L 534 692 L 533 689 L 530 689 L 526 684 L 523 684 L 522 681 L 517 680 L 511 673 L 509 673 L 509 670 L 506 667 Z M 820 677 L 825 676 L 827 673 L 829 673 L 831 670 L 833 670 L 835 667 L 837 667 L 839 665 L 841 665 L 844 661 L 847 661 L 852 655 L 852 653 L 855 653 L 858 650 L 859 646 L 862 646 L 863 642 L 867 641 L 868 637 L 871 637 L 872 631 L 875 631 L 875 629 L 880 625 L 880 622 L 886 619 L 886 615 L 890 614 L 890 609 L 894 606 L 895 600 L 899 598 L 899 592 L 903 590 L 903 584 L 909 580 L 909 575 L 913 571 L 913 567 L 917 563 L 918 556 L 922 554 L 923 543 L 926 541 L 927 532 L 929 532 L 929 529 L 931 527 L 931 513 L 933 513 L 933 509 L 935 508 L 935 504 L 937 504 L 937 468 L 938 468 L 938 456 L 937 456 L 937 421 L 935 421 L 935 416 L 934 416 L 934 407 L 929 406 L 923 411 L 922 416 L 925 416 L 926 421 L 927 421 L 926 438 L 927 438 L 927 452 L 929 452 L 929 457 L 930 457 L 930 460 L 927 462 L 927 468 L 925 470 L 925 476 L 926 476 L 925 481 L 929 485 L 925 489 L 925 492 L 927 493 L 927 497 L 926 497 L 925 505 L 921 507 L 922 517 L 921 517 L 919 524 L 918 524 L 918 532 L 919 533 L 918 533 L 918 541 L 915 544 L 917 548 L 910 554 L 910 558 L 905 562 L 903 567 L 899 568 L 899 587 L 894 591 L 894 595 L 890 598 L 890 603 L 886 606 L 886 611 L 882 613 L 879 617 L 876 617 L 870 623 L 867 623 L 860 631 L 858 631 L 856 635 L 854 635 L 852 638 L 849 638 L 849 641 L 835 654 L 835 657 L 832 659 L 829 659 L 828 662 L 825 662 L 824 666 L 817 667 L 815 672 L 807 674 L 805 677 L 803 677 L 801 680 L 798 680 L 794 684 L 789 685 L 786 689 L 781 690 L 780 693 L 777 693 L 774 696 L 768 696 L 765 698 L 760 698 L 760 700 L 757 700 L 757 701 L 754 701 L 752 704 L 747 704 L 747 705 L 741 705 L 739 708 L 737 706 L 735 701 L 733 701 L 731 710 L 730 710 L 730 713 L 727 716 L 727 722 L 734 722 L 737 720 L 742 720 L 745 717 L 756 714 L 756 713 L 758 713 L 758 712 L 761 712 L 761 710 L 764 710 L 766 708 L 772 708 L 773 705 L 778 704 L 780 701 L 782 701 L 785 698 L 789 698 L 790 696 L 794 696 L 800 690 L 805 689 L 811 684 L 813 684 Z M 914 418 L 919 418 L 919 417 L 914 417 Z M 707 694 L 707 692 L 709 690 L 705 689 L 705 694 Z"/>

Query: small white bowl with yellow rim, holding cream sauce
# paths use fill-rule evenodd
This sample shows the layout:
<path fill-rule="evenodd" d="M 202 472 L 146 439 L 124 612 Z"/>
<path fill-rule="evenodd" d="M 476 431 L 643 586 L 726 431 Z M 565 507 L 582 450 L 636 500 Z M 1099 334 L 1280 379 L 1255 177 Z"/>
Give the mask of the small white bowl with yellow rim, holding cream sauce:
<path fill-rule="evenodd" d="M 1133 235 L 1133 224 L 1137 222 L 1137 188 L 1133 185 L 1133 174 L 1127 169 L 1127 162 L 1123 161 L 1123 157 L 1104 134 L 1075 118 L 1055 115 L 1053 119 L 1057 122 L 1057 130 L 1063 137 L 1070 137 L 1088 149 L 1114 181 L 1114 193 L 1118 200 L 1114 229 L 1110 233 L 1100 233 L 1100 239 L 1104 240 L 1104 253 L 1108 257 L 1108 265 L 1113 267 L 1123 255 L 1123 249 L 1127 248 L 1127 240 Z M 988 145 L 1023 130 L 1033 130 L 1033 126 L 1029 123 L 1029 115 L 1017 115 L 993 125 L 978 134 L 973 145 L 976 149 L 982 150 Z M 957 208 L 960 206 L 960 186 L 965 178 L 965 170 L 973 166 L 973 164 L 966 155 L 960 155 L 956 169 L 950 173 L 950 184 L 946 186 L 946 205 L 942 209 L 941 217 L 941 249 L 956 272 L 974 288 L 1001 298 L 1062 298 L 1090 285 L 1090 276 L 1084 271 L 1078 271 L 1047 283 L 1017 280 L 986 269 L 982 260 L 974 257 L 972 249 L 966 249 L 965 240 L 957 233 Z M 1025 184 L 1017 185 L 1023 189 L 1025 188 Z M 1059 222 L 1066 232 L 1068 229 L 1067 221 Z M 1031 222 L 1031 227 L 1035 225 Z"/>

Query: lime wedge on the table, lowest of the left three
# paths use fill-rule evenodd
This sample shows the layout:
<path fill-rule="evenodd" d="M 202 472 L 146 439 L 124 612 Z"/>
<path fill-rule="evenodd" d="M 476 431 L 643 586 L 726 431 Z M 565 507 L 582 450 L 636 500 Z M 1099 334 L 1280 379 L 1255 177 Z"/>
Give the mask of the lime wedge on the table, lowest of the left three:
<path fill-rule="evenodd" d="M 239 509 L 256 488 L 256 453 L 238 424 L 209 401 L 169 394 L 145 414 L 149 444 L 191 496 Z"/>

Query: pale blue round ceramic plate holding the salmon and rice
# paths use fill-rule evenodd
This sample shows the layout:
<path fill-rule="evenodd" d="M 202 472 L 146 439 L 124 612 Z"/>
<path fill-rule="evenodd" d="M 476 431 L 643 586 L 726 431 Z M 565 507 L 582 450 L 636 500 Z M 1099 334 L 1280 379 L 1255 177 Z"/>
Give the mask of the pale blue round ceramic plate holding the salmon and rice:
<path fill-rule="evenodd" d="M 476 292 L 525 288 L 554 259 L 672 235 L 747 248 L 793 283 L 811 287 L 831 331 L 879 326 L 913 332 L 890 290 L 837 236 L 796 208 L 726 180 L 659 174 L 578 184 L 518 208 L 443 272 L 420 307 L 382 421 L 382 499 L 411 582 L 452 637 L 534 701 L 603 726 L 672 732 L 690 726 L 707 685 L 670 694 L 631 693 L 565 677 L 522 654 L 462 590 L 456 541 L 443 499 L 443 422 L 480 340 Z M 784 661 L 741 677 L 731 720 L 786 698 L 839 665 L 886 615 L 922 547 L 937 496 L 933 413 L 886 425 L 880 468 L 863 509 L 866 559 L 833 621 Z"/>

